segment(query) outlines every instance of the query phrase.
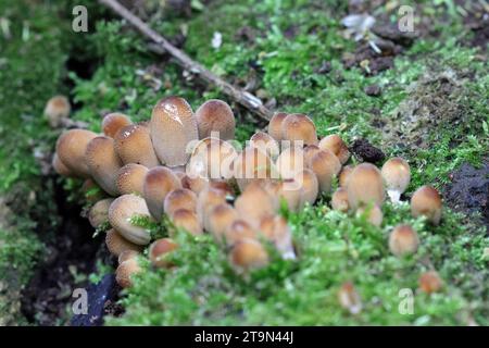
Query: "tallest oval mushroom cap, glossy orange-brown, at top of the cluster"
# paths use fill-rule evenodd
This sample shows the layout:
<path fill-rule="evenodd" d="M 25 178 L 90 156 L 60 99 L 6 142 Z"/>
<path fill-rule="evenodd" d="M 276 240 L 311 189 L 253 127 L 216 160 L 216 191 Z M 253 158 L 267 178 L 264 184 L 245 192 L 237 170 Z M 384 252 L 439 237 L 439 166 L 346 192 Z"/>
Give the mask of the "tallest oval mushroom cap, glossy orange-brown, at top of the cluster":
<path fill-rule="evenodd" d="M 150 133 L 158 158 L 167 166 L 185 165 L 188 147 L 199 138 L 192 109 L 179 97 L 158 101 L 151 114 Z"/>

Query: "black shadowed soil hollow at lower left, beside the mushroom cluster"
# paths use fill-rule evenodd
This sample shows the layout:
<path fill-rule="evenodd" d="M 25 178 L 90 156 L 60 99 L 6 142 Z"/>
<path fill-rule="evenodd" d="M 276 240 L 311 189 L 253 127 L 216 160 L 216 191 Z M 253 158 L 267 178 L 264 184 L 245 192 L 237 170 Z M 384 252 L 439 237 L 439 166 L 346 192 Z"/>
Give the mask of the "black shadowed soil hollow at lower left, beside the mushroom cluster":
<path fill-rule="evenodd" d="M 54 236 L 38 231 L 47 245 L 46 258 L 23 290 L 21 307 L 27 321 L 38 325 L 67 323 L 67 311 L 75 300 L 73 290 L 86 287 L 86 275 L 95 271 L 97 258 L 104 253 L 101 237 L 92 238 L 93 228 L 80 216 L 80 207 L 66 201 L 60 185 L 54 187 L 53 200 L 63 220 Z"/>

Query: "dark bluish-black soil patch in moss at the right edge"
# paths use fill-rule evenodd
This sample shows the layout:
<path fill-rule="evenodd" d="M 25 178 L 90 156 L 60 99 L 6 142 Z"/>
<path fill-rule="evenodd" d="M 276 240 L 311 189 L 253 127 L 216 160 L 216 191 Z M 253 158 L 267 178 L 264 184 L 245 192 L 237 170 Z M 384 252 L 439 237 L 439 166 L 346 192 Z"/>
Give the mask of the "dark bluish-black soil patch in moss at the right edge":
<path fill-rule="evenodd" d="M 451 178 L 444 189 L 448 204 L 465 213 L 480 213 L 489 231 L 489 161 L 480 169 L 465 163 Z"/>

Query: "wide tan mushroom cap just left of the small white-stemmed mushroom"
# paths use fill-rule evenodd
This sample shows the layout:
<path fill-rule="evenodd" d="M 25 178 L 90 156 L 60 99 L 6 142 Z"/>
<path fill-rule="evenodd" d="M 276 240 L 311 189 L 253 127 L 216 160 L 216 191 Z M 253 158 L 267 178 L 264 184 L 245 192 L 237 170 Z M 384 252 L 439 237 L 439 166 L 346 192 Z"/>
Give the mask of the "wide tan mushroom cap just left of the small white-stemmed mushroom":
<path fill-rule="evenodd" d="M 380 207 L 385 198 L 380 171 L 371 163 L 356 165 L 348 179 L 347 190 L 350 208 L 354 210 L 372 202 Z"/>

